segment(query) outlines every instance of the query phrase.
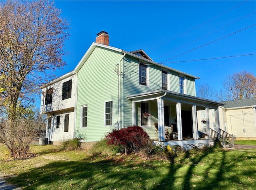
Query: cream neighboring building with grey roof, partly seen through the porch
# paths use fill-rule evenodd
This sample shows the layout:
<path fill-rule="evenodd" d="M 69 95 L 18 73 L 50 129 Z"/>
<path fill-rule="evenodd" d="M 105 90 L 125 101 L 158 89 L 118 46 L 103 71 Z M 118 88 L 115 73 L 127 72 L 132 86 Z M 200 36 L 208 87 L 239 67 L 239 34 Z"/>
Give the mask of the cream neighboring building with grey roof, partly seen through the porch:
<path fill-rule="evenodd" d="M 220 129 L 233 134 L 237 140 L 256 140 L 256 97 L 241 100 L 224 101 L 219 107 Z M 198 111 L 198 121 L 207 120 L 205 110 Z M 216 129 L 215 112 L 209 109 L 209 125 Z M 206 123 L 198 123 L 198 130 L 206 133 Z"/>

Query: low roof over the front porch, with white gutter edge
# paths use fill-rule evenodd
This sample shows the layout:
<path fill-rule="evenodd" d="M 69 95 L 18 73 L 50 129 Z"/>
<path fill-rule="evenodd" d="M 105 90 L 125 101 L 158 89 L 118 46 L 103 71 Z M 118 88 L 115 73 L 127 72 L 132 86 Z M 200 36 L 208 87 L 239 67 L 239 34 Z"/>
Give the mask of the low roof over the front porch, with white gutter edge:
<path fill-rule="evenodd" d="M 174 101 L 174 102 L 181 102 L 190 105 L 197 105 L 202 107 L 210 107 L 210 108 L 217 108 L 219 106 L 223 106 L 223 103 L 203 99 L 191 95 L 181 94 L 174 91 L 168 91 L 164 89 L 158 89 L 154 91 L 148 91 L 144 93 L 138 93 L 127 96 L 132 102 L 142 102 L 142 101 L 150 101 L 156 100 L 158 98 L 162 98 L 164 100 Z"/>

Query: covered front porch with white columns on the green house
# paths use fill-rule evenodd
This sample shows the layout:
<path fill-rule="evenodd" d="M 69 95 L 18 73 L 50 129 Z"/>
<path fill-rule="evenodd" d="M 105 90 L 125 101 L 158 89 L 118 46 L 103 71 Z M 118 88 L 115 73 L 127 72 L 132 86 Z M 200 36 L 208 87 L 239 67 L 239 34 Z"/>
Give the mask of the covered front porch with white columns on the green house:
<path fill-rule="evenodd" d="M 155 141 L 170 145 L 207 145 L 210 140 L 204 135 L 210 134 L 209 109 L 214 109 L 216 131 L 219 129 L 218 107 L 222 104 L 215 101 L 164 89 L 130 95 L 128 99 L 132 102 L 132 125 L 143 127 Z M 206 113 L 206 133 L 198 131 L 199 110 Z"/>

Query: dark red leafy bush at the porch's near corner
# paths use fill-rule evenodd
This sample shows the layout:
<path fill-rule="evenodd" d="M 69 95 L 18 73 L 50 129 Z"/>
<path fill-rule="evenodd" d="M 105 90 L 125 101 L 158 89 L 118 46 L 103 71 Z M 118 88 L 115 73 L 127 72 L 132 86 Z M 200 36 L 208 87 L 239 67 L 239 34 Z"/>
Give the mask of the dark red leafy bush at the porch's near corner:
<path fill-rule="evenodd" d="M 106 139 L 109 145 L 122 144 L 125 149 L 125 155 L 127 155 L 127 150 L 138 152 L 150 143 L 148 134 L 139 126 L 130 126 L 120 130 L 114 129 L 106 136 Z"/>

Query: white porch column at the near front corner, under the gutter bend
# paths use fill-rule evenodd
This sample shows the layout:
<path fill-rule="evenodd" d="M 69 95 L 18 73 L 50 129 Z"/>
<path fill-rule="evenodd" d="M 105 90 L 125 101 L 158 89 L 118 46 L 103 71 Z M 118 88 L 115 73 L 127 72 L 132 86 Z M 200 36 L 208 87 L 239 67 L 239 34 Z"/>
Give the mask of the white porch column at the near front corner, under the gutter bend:
<path fill-rule="evenodd" d="M 164 100 L 157 99 L 157 117 L 158 117 L 158 139 L 165 141 L 164 136 Z"/>

